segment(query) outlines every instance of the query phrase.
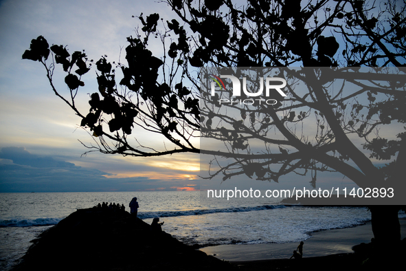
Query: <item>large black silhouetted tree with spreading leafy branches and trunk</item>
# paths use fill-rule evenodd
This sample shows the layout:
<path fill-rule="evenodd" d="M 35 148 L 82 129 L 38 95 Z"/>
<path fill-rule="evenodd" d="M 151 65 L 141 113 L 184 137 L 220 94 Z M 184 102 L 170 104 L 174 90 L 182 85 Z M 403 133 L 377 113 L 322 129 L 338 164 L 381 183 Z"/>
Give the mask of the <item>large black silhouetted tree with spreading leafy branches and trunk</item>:
<path fill-rule="evenodd" d="M 405 171 L 405 133 L 398 133 L 397 138 L 382 138 L 376 131 L 391 122 L 405 123 L 404 83 L 373 87 L 362 83 L 365 78 L 350 78 L 348 81 L 359 87 L 353 94 L 332 93 L 324 85 L 339 78 L 337 73 L 344 70 L 339 66 L 354 70 L 359 66 L 405 65 L 405 1 L 167 3 L 177 19 L 163 22 L 164 30 L 159 31 L 158 14 L 150 14 L 146 19 L 139 17 L 142 33 L 128 38 L 127 63 L 113 63 L 122 71 L 118 84 L 115 69 L 105 57 L 95 63 L 99 89 L 91 94 L 89 113 L 80 112 L 75 104 L 78 89 L 84 85 L 80 76 L 89 71 L 91 63 L 84 52 L 70 55 L 63 45 L 49 47 L 39 36 L 23 54 L 23 58 L 44 65 L 55 94 L 82 118 L 82 127 L 90 129 L 98 139 L 98 144 L 90 148 L 133 156 L 199 153 L 192 138 L 202 132 L 232 147 L 233 151 L 222 153 L 201 149 L 203 153 L 235 158 L 234 163 L 221 166 L 212 175 L 224 173 L 225 180 L 240 174 L 252 177 L 255 173 L 259 180 L 277 182 L 282 175 L 302 170 L 300 174 L 311 172 L 313 185 L 317 171 L 339 171 L 361 187 L 401 182 L 400 176 Z M 161 58 L 148 50 L 150 36 L 161 39 L 164 49 Z M 70 89 L 67 97 L 60 94 L 52 81 L 56 64 L 62 65 L 67 73 L 65 83 Z M 241 118 L 237 120 L 218 114 L 214 107 L 199 108 L 199 98 L 205 102 L 207 97 L 199 96 L 198 72 L 191 66 L 337 69 L 331 69 L 335 74 L 330 74 L 330 78 L 325 74 L 293 74 L 282 69 L 280 76 L 289 79 L 290 73 L 308 83 L 307 92 L 290 88 L 286 93 L 289 96 L 280 100 L 277 107 L 234 107 L 240 111 Z M 380 69 L 374 71 L 382 74 Z M 402 71 L 398 74 L 404 76 Z M 386 80 L 382 76 L 376 78 Z M 398 77 L 394 80 L 401 81 Z M 313 138 L 295 132 L 295 125 L 311 118 L 316 122 Z M 232 129 L 219 126 L 220 120 Z M 169 144 L 156 149 L 131 142 L 129 135 L 136 127 L 163 135 Z M 279 131 L 280 138 L 273 138 L 271 129 Z M 352 135 L 363 139 L 363 144 L 356 146 Z M 248 140 L 254 138 L 267 144 L 264 153 L 250 152 Z M 360 147 L 368 149 L 371 157 Z M 397 159 L 383 168 L 372 164 L 371 158 L 390 160 L 396 153 Z M 399 208 L 371 210 L 376 240 L 400 239 Z"/>

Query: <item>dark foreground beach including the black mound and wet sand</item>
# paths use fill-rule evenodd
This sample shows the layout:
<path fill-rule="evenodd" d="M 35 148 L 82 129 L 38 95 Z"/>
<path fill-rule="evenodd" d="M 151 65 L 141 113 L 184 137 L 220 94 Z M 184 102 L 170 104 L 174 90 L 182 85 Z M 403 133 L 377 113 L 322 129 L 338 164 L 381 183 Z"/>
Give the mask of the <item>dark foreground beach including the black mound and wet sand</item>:
<path fill-rule="evenodd" d="M 401 228 L 404 236 L 405 219 Z M 124 210 L 94 207 L 77 210 L 43 232 L 15 270 L 364 270 L 372 266 L 393 270 L 403 260 L 404 241 L 396 248 L 364 245 L 352 252 L 352 246 L 368 242 L 371 235 L 369 223 L 315 232 L 304 243 L 303 259 L 288 259 L 297 243 L 199 251 Z"/>

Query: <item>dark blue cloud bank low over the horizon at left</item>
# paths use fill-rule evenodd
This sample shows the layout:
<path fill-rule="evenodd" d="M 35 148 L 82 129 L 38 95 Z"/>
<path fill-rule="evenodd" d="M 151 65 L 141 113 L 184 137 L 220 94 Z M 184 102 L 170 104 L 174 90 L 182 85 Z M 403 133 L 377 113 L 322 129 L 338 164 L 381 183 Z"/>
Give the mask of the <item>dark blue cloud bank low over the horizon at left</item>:
<path fill-rule="evenodd" d="M 106 156 L 105 163 L 109 163 Z M 133 165 L 134 166 L 134 165 Z M 144 175 L 115 177 L 87 166 L 76 166 L 61 158 L 30 153 L 24 147 L 4 147 L 0 151 L 0 193 L 5 192 L 95 192 L 95 191 L 176 191 L 199 180 Z M 168 169 L 170 171 L 170 169 Z M 168 175 L 170 176 L 170 175 Z"/>

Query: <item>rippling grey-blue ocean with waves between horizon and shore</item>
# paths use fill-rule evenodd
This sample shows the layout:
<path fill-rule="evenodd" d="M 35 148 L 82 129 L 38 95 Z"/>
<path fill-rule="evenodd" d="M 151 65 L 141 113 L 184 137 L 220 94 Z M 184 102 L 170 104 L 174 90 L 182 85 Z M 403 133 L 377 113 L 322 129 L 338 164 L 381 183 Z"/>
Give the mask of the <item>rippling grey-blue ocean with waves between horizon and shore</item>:
<path fill-rule="evenodd" d="M 207 199 L 201 192 L 0 193 L 0 270 L 10 270 L 30 241 L 77 209 L 138 198 L 138 217 L 180 241 L 200 246 L 286 243 L 312 232 L 348 228 L 370 221 L 365 207 L 284 206 L 280 199 Z M 405 217 L 401 214 L 400 217 Z"/>

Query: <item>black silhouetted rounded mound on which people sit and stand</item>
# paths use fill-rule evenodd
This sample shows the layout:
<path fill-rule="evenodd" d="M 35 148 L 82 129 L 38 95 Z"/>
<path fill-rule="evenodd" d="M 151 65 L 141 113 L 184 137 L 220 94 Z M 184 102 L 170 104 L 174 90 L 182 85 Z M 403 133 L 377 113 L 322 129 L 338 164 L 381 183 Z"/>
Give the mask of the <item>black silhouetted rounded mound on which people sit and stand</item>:
<path fill-rule="evenodd" d="M 119 210 L 77 210 L 33 243 L 14 270 L 234 270 Z"/>

